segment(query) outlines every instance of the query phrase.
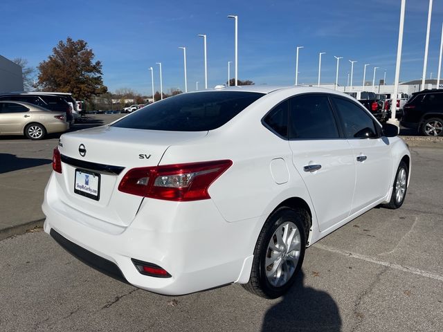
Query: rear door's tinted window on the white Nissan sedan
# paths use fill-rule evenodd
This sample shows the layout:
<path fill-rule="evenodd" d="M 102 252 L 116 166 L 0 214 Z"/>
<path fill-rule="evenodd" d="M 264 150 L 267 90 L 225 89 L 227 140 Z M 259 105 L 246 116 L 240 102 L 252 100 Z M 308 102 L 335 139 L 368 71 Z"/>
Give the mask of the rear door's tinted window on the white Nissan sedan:
<path fill-rule="evenodd" d="M 290 138 L 339 138 L 327 95 L 299 95 L 289 103 Z"/>

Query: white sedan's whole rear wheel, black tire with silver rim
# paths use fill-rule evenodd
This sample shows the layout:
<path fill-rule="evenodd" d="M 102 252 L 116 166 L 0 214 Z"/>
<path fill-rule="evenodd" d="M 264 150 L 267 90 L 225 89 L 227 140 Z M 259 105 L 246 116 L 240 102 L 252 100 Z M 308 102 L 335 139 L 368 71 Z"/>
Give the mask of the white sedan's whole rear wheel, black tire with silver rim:
<path fill-rule="evenodd" d="M 251 277 L 242 285 L 246 291 L 267 299 L 288 291 L 305 257 L 309 220 L 302 208 L 282 207 L 269 216 L 255 244 Z"/>

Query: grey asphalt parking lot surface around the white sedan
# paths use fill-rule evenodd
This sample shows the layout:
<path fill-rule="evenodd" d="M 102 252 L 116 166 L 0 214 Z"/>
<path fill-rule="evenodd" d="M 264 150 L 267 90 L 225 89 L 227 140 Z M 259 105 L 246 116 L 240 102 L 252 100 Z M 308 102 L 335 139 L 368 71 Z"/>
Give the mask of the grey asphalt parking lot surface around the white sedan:
<path fill-rule="evenodd" d="M 282 299 L 239 285 L 181 297 L 148 293 L 85 266 L 37 228 L 0 241 L 0 330 L 443 331 L 443 142 L 411 142 L 403 207 L 374 208 L 314 244 Z M 57 136 L 0 140 L 1 228 L 44 217 L 55 145 Z"/>

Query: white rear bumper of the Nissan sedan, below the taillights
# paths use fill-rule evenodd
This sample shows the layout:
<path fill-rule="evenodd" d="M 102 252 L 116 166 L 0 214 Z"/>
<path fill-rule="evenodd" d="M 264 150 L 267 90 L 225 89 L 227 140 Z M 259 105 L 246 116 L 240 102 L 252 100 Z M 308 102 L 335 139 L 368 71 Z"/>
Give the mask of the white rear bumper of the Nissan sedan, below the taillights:
<path fill-rule="evenodd" d="M 145 199 L 126 228 L 98 219 L 94 224 L 93 217 L 60 201 L 55 186 L 53 174 L 42 205 L 44 231 L 62 239 L 59 243 L 73 243 L 71 248 L 80 248 L 89 257 L 100 257 L 96 261 L 108 261 L 129 284 L 154 293 L 183 295 L 247 282 L 244 275 L 251 271 L 253 248 L 245 239 L 252 236 L 257 219 L 228 223 L 212 200 Z M 132 259 L 156 264 L 171 277 L 142 275 Z"/>

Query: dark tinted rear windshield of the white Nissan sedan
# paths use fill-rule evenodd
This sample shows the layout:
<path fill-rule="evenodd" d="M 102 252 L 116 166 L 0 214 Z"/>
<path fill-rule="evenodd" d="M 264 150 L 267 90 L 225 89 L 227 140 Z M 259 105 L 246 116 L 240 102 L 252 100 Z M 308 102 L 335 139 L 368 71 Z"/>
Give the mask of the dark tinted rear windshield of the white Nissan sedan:
<path fill-rule="evenodd" d="M 263 93 L 210 91 L 175 95 L 139 109 L 113 127 L 165 131 L 207 131 L 221 127 Z"/>

